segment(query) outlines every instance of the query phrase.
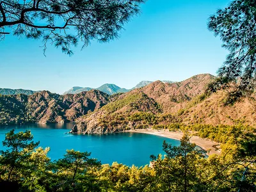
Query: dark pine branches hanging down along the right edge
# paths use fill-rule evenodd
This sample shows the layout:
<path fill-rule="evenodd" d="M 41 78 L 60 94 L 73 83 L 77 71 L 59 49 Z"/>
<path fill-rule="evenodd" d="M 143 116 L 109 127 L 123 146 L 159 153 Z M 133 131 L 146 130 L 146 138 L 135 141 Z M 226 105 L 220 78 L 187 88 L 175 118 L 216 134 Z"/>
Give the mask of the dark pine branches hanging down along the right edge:
<path fill-rule="evenodd" d="M 230 104 L 255 90 L 256 72 L 256 1 L 232 1 L 209 18 L 208 28 L 220 36 L 229 51 L 227 60 L 219 68 L 212 90 L 230 88 Z"/>

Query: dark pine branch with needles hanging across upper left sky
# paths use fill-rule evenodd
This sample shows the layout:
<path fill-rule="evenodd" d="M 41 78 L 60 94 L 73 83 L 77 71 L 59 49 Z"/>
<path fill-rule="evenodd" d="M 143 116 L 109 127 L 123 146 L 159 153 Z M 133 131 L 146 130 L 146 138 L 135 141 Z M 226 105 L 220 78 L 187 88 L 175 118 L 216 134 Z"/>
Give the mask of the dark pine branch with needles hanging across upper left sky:
<path fill-rule="evenodd" d="M 73 54 L 78 41 L 108 42 L 133 15 L 140 13 L 144 0 L 34 0 L 0 1 L 0 40 L 13 35 L 42 39 Z M 10 30 L 9 30 L 10 29 Z"/>

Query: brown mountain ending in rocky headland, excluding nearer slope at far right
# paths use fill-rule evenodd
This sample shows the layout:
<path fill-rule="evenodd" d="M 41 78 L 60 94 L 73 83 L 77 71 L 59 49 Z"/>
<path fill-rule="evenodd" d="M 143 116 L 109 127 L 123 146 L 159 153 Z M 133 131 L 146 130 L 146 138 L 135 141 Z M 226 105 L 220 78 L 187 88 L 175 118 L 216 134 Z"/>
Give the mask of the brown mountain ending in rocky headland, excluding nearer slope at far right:
<path fill-rule="evenodd" d="M 81 116 L 77 119 L 78 129 L 90 134 L 107 133 L 178 122 L 179 117 L 173 114 L 204 93 L 212 79 L 214 76 L 202 74 L 179 83 L 155 81 L 119 95 L 90 115 Z"/>

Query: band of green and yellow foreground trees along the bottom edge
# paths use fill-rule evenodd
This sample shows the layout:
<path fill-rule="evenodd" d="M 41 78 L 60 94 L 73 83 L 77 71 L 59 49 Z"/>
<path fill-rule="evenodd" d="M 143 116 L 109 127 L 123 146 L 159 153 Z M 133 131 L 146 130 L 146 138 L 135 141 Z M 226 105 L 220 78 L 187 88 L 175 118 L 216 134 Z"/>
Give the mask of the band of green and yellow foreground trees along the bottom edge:
<path fill-rule="evenodd" d="M 58 161 L 47 157 L 30 131 L 10 131 L 0 152 L 1 191 L 255 191 L 256 136 L 237 143 L 236 156 L 205 158 L 185 132 L 179 147 L 164 141 L 164 156 L 141 168 L 100 164 L 88 152 L 67 150 Z M 254 144 L 253 144 L 254 143 Z M 253 149 L 251 147 L 253 146 Z M 36 148 L 38 147 L 38 148 Z"/>

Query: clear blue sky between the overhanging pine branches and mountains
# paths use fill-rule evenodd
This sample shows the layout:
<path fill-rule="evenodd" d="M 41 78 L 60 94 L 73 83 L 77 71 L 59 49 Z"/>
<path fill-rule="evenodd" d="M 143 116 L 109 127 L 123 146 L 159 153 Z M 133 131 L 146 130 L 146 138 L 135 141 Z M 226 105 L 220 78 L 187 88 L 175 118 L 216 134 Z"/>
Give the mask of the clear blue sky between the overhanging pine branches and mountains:
<path fill-rule="evenodd" d="M 6 36 L 0 42 L 0 88 L 63 93 L 72 86 L 97 88 L 104 83 L 132 88 L 143 80 L 182 81 L 215 74 L 227 51 L 207 30 L 209 15 L 228 0 L 148 0 L 142 13 L 125 24 L 120 38 L 93 42 L 74 56 L 40 40 Z"/>

